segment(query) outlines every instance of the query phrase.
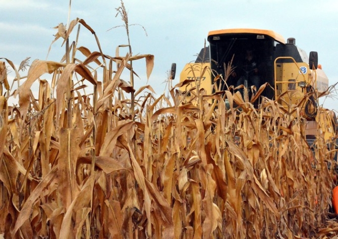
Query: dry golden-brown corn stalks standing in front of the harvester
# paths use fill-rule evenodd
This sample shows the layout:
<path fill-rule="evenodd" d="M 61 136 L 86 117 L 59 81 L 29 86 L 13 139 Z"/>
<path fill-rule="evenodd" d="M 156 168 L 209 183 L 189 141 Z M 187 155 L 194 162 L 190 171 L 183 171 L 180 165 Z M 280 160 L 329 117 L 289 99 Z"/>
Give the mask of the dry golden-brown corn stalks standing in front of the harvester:
<path fill-rule="evenodd" d="M 69 43 L 76 26 L 99 51 Z M 338 238 L 335 152 L 319 134 L 309 147 L 297 110 L 187 101 L 184 82 L 154 98 L 121 79 L 139 60 L 149 76 L 153 55 L 104 54 L 82 19 L 59 38 L 60 62 L 0 64 L 0 238 Z"/>

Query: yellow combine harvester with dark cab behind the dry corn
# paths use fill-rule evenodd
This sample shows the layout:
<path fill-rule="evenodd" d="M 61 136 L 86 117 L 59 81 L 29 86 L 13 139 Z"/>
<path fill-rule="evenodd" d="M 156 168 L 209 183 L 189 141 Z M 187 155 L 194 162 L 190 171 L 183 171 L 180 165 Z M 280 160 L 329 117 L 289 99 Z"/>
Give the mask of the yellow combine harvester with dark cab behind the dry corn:
<path fill-rule="evenodd" d="M 307 55 L 296 46 L 294 38 L 286 42 L 270 30 L 210 31 L 208 42 L 195 63 L 184 67 L 180 81 L 190 83 L 180 90 L 196 89 L 197 83 L 197 89 L 203 88 L 209 95 L 239 91 L 244 101 L 253 99 L 256 106 L 261 97 L 277 100 L 287 111 L 299 110 L 306 120 L 308 141 L 318 134 L 326 143 L 336 138 L 334 112 L 318 107 L 318 98 L 327 93 L 328 79 L 318 65 L 317 52 Z"/>

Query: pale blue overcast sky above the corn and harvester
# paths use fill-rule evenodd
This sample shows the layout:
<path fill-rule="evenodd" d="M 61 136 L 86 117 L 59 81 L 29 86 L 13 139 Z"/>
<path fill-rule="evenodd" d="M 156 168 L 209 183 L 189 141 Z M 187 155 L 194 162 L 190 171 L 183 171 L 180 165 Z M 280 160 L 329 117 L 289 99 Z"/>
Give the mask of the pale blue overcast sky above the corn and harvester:
<path fill-rule="evenodd" d="M 273 30 L 296 38 L 296 45 L 318 51 L 319 64 L 329 78 L 329 85 L 338 81 L 337 0 L 124 0 L 128 10 L 133 54 L 154 54 L 155 65 L 149 79 L 158 94 L 163 93 L 173 62 L 177 77 L 186 63 L 194 61 L 211 30 L 226 28 L 257 28 Z M 26 57 L 46 59 L 48 48 L 57 30 L 67 24 L 69 0 L 0 0 L 0 57 L 16 65 Z M 72 0 L 70 19 L 81 18 L 96 32 L 104 53 L 114 56 L 118 45 L 127 44 L 121 17 L 116 17 L 120 0 Z M 141 26 L 140 26 L 141 25 Z M 146 33 L 144 29 L 146 30 Z M 108 31 L 109 30 L 109 31 Z M 76 31 L 71 35 L 75 40 Z M 62 41 L 55 42 L 48 55 L 60 61 L 65 50 Z M 92 34 L 81 30 L 78 46 L 98 50 Z M 141 79 L 135 86 L 147 84 L 145 61 L 134 64 Z M 128 79 L 126 79 L 128 81 Z M 324 106 L 338 110 L 335 99 Z"/>

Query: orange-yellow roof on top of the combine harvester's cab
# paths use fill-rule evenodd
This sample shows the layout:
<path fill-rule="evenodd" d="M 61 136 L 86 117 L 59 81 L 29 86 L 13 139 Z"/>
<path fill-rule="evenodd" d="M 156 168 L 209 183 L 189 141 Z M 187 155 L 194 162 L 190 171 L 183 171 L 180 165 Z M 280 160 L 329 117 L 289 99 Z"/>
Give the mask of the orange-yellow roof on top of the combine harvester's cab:
<path fill-rule="evenodd" d="M 258 35 L 267 35 L 267 36 L 272 37 L 274 40 L 285 44 L 285 39 L 283 36 L 271 30 L 261 30 L 261 29 L 236 28 L 236 29 L 215 30 L 215 31 L 210 31 L 208 33 L 208 38 L 209 36 L 213 36 L 213 35 L 234 34 L 234 33 L 235 34 L 236 33 L 252 33 L 252 34 L 258 34 Z"/>

